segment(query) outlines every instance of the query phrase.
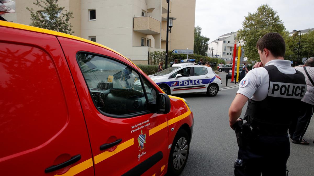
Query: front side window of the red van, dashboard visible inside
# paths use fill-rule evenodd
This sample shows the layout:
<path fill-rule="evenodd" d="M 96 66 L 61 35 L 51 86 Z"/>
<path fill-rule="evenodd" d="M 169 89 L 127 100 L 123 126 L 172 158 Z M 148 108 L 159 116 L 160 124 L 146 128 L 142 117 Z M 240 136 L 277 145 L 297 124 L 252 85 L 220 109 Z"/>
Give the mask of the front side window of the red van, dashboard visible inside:
<path fill-rule="evenodd" d="M 148 113 L 147 100 L 155 101 L 156 91 L 131 67 L 106 57 L 78 53 L 81 67 L 95 106 L 107 116 Z"/>

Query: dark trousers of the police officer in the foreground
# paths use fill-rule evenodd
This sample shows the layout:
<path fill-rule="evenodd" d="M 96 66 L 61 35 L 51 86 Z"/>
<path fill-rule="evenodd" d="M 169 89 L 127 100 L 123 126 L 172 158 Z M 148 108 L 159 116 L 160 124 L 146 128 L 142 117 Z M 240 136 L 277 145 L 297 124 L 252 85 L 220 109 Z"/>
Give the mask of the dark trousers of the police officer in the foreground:
<path fill-rule="evenodd" d="M 239 148 L 238 158 L 243 160 L 243 165 L 235 164 L 236 176 L 286 175 L 290 156 L 288 135 L 257 136 L 245 141 L 245 147 Z"/>

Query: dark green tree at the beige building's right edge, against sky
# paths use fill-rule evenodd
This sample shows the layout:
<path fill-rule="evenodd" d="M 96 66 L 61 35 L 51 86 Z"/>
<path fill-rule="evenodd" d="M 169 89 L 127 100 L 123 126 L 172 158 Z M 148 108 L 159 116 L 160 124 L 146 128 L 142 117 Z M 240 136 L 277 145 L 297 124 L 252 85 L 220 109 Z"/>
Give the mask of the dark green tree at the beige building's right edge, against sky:
<path fill-rule="evenodd" d="M 202 28 L 197 26 L 194 28 L 194 53 L 207 56 L 209 38 L 201 35 Z"/>

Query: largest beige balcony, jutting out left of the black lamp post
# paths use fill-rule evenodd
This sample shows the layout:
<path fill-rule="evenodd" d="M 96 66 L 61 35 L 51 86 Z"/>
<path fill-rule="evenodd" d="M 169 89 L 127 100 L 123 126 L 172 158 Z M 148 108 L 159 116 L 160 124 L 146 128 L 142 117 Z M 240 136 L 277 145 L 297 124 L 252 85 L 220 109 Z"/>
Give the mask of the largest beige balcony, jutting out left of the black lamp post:
<path fill-rule="evenodd" d="M 143 34 L 160 34 L 160 21 L 150 17 L 134 17 L 133 30 Z"/>

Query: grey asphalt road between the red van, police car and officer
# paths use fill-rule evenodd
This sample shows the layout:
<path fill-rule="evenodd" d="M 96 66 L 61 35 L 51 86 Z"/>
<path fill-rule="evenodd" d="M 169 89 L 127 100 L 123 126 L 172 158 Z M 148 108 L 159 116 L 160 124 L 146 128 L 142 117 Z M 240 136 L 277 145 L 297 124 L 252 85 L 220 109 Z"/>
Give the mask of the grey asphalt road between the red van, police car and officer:
<path fill-rule="evenodd" d="M 228 109 L 236 91 L 237 88 L 219 91 L 215 97 L 205 94 L 178 95 L 189 102 L 194 115 L 190 154 L 181 175 L 234 175 L 238 146 L 235 133 L 229 127 Z M 244 112 L 245 108 L 242 117 Z M 313 121 L 312 117 L 304 136 L 310 145 L 290 142 L 289 176 L 314 175 Z"/>

